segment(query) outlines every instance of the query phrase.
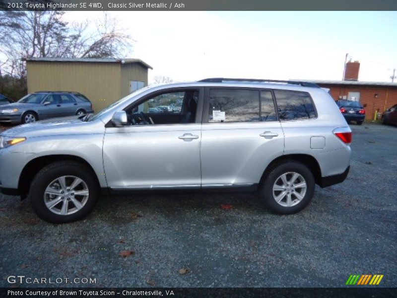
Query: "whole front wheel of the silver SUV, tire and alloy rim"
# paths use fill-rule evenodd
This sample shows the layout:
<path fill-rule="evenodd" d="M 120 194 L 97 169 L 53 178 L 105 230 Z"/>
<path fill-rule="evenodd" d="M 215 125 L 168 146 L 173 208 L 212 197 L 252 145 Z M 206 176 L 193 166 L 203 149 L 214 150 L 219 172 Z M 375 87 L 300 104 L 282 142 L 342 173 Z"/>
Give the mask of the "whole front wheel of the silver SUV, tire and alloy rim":
<path fill-rule="evenodd" d="M 47 165 L 30 186 L 33 210 L 49 223 L 69 223 L 87 216 L 99 195 L 94 173 L 73 161 Z"/>

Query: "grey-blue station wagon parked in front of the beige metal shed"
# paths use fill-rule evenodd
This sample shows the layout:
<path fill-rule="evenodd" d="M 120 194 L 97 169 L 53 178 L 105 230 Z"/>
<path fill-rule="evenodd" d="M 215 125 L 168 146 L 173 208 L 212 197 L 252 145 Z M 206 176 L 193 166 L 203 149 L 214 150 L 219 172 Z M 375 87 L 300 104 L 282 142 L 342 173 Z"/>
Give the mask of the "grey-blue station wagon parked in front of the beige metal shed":
<path fill-rule="evenodd" d="M 93 113 L 87 97 L 78 92 L 40 91 L 0 107 L 0 122 L 31 123 L 37 120 Z"/>

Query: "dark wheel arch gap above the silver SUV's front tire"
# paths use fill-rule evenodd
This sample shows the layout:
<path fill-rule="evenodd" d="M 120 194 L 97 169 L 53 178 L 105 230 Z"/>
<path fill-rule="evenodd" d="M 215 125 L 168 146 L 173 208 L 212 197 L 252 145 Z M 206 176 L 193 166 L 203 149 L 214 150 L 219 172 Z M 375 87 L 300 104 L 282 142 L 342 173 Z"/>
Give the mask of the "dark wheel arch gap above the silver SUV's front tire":
<path fill-rule="evenodd" d="M 100 187 L 98 176 L 96 175 L 94 169 L 89 164 L 89 162 L 86 161 L 84 158 L 76 155 L 68 155 L 68 154 L 44 155 L 30 160 L 22 169 L 18 181 L 18 190 L 21 194 L 21 199 L 22 200 L 25 199 L 29 194 L 30 184 L 38 171 L 40 171 L 42 168 L 44 168 L 50 163 L 53 163 L 55 161 L 62 161 L 62 160 L 74 161 L 87 166 L 87 168 L 94 175 L 98 183 L 98 188 Z"/>

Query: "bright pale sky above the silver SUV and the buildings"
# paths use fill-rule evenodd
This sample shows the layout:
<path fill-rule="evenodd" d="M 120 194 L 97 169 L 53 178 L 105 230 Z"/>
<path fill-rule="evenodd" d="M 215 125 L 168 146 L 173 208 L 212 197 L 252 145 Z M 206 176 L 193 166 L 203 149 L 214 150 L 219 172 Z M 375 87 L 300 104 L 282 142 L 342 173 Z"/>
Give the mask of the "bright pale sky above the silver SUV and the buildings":
<path fill-rule="evenodd" d="M 340 80 L 346 53 L 359 80 L 391 81 L 397 12 L 109 12 L 135 40 L 138 58 L 174 81 L 205 77 Z M 101 12 L 89 13 L 89 17 Z M 68 11 L 84 20 L 87 12 Z"/>

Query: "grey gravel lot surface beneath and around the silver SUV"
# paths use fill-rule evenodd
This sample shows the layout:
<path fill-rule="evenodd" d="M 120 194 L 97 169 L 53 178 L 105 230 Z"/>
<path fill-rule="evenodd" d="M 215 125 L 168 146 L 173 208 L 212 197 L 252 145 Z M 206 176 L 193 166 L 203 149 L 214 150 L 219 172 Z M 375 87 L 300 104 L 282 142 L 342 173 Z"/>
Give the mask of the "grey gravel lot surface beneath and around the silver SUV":
<path fill-rule="evenodd" d="M 136 195 L 104 197 L 86 220 L 55 225 L 29 200 L 0 195 L 0 287 L 9 275 L 96 278 L 94 287 L 340 287 L 350 274 L 384 274 L 381 286 L 396 287 L 397 128 L 351 128 L 347 180 L 316 187 L 291 216 L 253 194 Z"/>

